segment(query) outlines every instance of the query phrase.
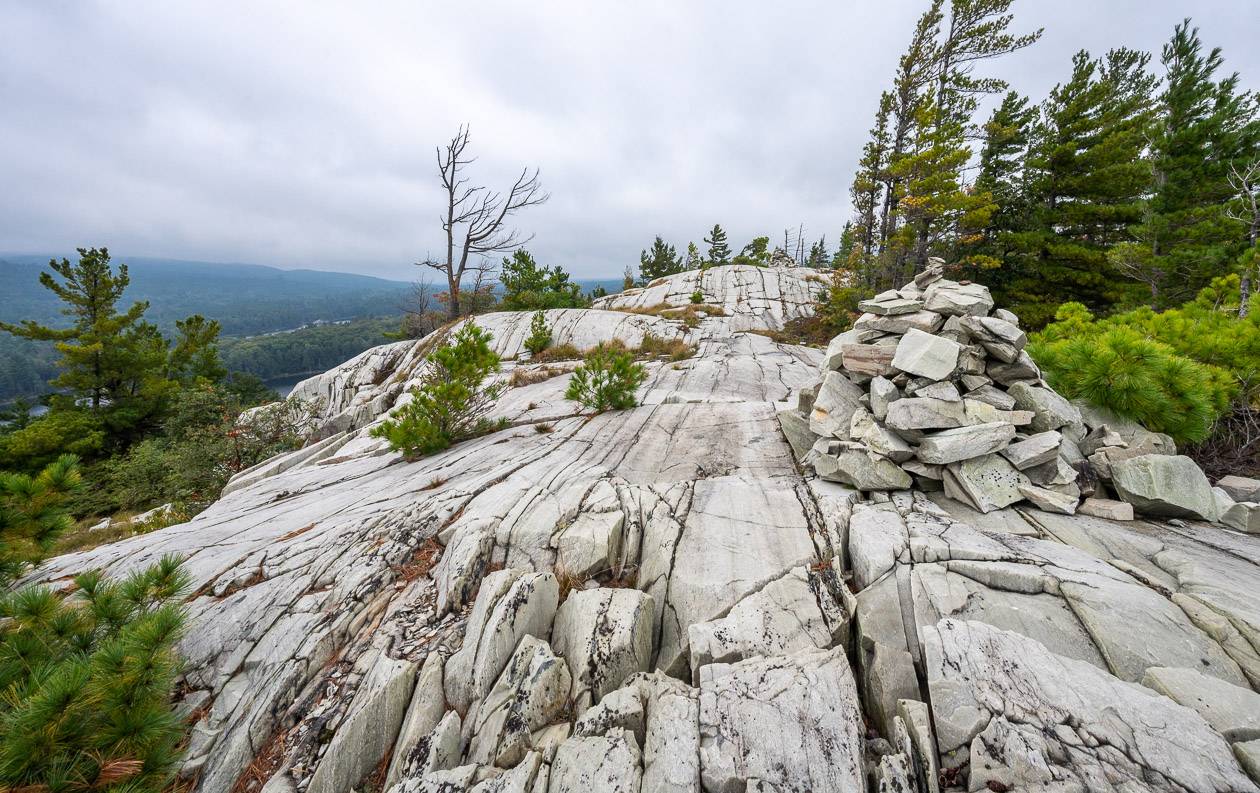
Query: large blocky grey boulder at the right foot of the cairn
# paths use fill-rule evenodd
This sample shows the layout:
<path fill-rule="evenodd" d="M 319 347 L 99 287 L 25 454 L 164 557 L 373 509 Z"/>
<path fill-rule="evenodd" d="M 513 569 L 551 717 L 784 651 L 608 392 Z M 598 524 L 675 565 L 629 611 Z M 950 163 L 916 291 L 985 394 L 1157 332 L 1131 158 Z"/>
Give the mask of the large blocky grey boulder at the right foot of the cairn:
<path fill-rule="evenodd" d="M 1147 454 L 1111 464 L 1111 483 L 1121 499 L 1142 513 L 1215 521 L 1212 485 L 1184 455 Z"/>

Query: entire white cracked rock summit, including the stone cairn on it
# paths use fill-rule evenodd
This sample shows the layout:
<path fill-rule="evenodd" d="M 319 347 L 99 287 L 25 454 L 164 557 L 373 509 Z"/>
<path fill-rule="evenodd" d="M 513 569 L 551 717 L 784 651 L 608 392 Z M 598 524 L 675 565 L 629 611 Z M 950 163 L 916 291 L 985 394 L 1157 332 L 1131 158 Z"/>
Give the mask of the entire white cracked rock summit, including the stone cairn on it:
<path fill-rule="evenodd" d="M 1062 398 L 940 262 L 776 342 L 824 286 L 547 311 L 696 347 L 596 416 L 478 316 L 505 427 L 417 461 L 369 430 L 432 342 L 375 348 L 296 388 L 302 449 L 38 576 L 186 559 L 202 793 L 1260 790 L 1260 483 Z"/>

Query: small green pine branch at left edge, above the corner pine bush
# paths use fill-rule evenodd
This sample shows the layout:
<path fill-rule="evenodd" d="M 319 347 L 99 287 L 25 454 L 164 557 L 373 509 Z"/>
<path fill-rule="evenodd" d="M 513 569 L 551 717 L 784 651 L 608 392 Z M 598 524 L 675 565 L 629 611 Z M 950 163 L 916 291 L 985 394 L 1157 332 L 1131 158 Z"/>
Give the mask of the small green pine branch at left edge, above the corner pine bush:
<path fill-rule="evenodd" d="M 48 556 L 73 523 L 66 499 L 81 487 L 78 458 L 72 454 L 35 477 L 0 472 L 0 588 Z"/>

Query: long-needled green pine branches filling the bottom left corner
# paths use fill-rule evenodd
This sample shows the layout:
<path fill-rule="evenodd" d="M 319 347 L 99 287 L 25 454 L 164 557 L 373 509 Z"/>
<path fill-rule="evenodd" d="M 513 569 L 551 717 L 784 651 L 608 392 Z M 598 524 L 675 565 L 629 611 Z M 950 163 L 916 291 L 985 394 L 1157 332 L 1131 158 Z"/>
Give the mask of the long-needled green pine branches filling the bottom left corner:
<path fill-rule="evenodd" d="M 62 596 L 0 596 L 0 789 L 159 793 L 180 761 L 171 706 L 188 576 L 164 557 Z"/>

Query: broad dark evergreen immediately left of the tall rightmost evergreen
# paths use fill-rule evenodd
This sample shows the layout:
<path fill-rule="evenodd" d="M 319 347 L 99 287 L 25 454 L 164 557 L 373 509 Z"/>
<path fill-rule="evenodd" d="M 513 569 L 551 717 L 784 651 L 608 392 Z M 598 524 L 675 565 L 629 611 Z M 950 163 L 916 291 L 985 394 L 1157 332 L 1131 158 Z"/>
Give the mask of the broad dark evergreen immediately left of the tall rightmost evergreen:
<path fill-rule="evenodd" d="M 1154 78 L 1149 55 L 1115 49 L 1072 58 L 1071 78 L 1042 107 L 1028 155 L 1036 255 L 1013 274 L 1012 309 L 1032 327 L 1075 300 L 1105 311 L 1131 296 L 1108 250 L 1130 240 L 1149 183 L 1143 149 Z"/>

